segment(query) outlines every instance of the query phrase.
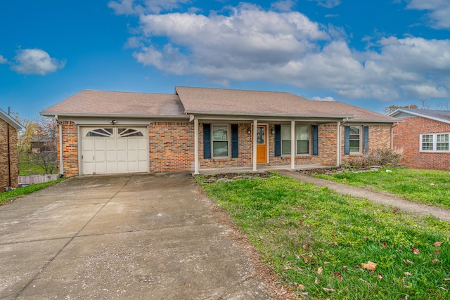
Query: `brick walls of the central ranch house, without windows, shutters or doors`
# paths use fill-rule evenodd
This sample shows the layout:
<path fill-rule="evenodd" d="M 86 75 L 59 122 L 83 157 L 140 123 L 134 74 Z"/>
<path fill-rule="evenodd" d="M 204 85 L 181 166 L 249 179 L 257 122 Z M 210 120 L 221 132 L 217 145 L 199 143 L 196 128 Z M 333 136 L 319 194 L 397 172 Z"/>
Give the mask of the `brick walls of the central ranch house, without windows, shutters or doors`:
<path fill-rule="evenodd" d="M 203 123 L 199 124 L 199 162 L 200 169 L 225 167 L 252 167 L 252 135 L 248 129 L 252 123 L 238 124 L 239 157 L 203 158 Z M 275 136 L 271 133 L 274 124 L 268 126 L 269 163 L 259 166 L 289 166 L 290 156 L 275 157 Z M 295 164 L 330 164 L 337 163 L 337 124 L 319 125 L 319 155 L 298 155 Z M 390 147 L 390 126 L 375 125 L 369 129 L 369 147 Z M 344 136 L 342 130 L 342 160 Z M 310 143 L 312 138 L 310 140 Z M 77 126 L 73 122 L 63 122 L 63 159 L 64 174 L 78 174 Z M 149 170 L 150 172 L 192 171 L 194 169 L 194 128 L 193 122 L 153 122 L 148 126 Z M 59 140 L 58 140 L 59 156 Z M 58 157 L 59 159 L 59 157 Z"/>

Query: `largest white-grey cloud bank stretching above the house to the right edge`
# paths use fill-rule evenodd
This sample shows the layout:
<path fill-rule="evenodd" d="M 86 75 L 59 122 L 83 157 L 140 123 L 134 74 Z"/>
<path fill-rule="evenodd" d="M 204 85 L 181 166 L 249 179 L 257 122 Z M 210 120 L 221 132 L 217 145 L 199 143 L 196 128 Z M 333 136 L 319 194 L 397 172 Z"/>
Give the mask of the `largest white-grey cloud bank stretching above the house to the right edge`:
<path fill-rule="evenodd" d="M 378 34 L 378 41 L 367 39 L 370 50 L 356 51 L 342 28 L 302 13 L 228 8 L 210 15 L 141 13 L 139 34 L 127 46 L 143 65 L 223 85 L 260 80 L 380 100 L 450 94 L 450 39 Z M 160 38 L 167 43 L 153 43 Z"/>

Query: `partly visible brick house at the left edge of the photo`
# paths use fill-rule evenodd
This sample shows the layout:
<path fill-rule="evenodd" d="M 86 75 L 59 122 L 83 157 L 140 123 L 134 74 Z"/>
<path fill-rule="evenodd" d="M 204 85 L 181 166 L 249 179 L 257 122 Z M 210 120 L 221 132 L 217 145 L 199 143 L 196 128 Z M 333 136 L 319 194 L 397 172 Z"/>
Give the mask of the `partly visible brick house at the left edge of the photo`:
<path fill-rule="evenodd" d="M 18 186 L 18 130 L 23 126 L 0 109 L 0 193 Z"/>

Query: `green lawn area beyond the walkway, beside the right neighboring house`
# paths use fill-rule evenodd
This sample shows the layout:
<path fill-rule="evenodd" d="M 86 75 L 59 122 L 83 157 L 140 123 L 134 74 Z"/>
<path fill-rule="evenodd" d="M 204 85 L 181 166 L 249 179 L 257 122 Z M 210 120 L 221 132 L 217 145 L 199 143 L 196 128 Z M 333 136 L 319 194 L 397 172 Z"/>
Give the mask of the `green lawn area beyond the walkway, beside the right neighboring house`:
<path fill-rule="evenodd" d="M 412 202 L 450 209 L 450 172 L 447 171 L 383 168 L 364 173 L 315 176 L 360 188 L 383 190 Z"/>

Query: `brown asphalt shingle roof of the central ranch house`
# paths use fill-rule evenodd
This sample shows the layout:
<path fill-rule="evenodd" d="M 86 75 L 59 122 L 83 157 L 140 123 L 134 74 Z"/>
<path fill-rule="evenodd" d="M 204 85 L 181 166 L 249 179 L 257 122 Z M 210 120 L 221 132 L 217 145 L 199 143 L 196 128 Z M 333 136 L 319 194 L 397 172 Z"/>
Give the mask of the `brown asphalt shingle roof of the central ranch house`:
<path fill-rule="evenodd" d="M 349 117 L 352 122 L 397 122 L 397 119 L 338 101 L 316 101 L 274 91 L 247 91 L 176 86 L 175 94 L 81 91 L 41 115 L 77 117 L 187 117 L 251 115 L 273 117 Z"/>

